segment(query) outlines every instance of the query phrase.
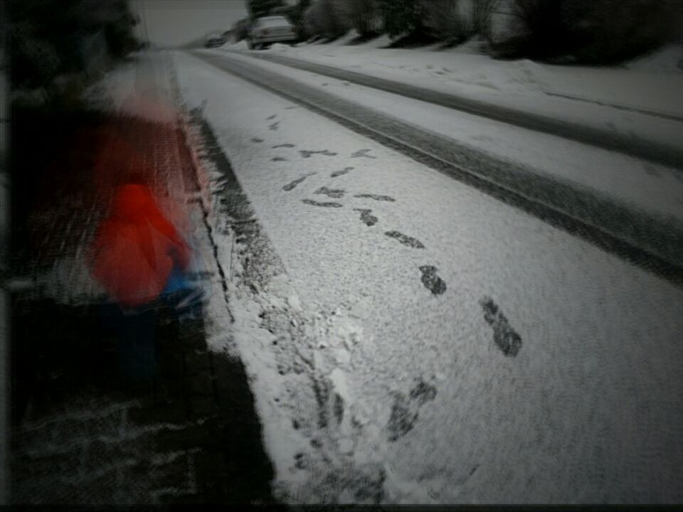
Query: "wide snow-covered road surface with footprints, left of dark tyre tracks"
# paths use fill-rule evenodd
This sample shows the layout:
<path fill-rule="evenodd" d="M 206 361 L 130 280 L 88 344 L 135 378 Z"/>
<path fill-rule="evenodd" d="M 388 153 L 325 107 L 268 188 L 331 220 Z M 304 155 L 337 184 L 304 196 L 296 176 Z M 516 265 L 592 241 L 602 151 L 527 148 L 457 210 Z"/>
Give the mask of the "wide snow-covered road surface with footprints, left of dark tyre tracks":
<path fill-rule="evenodd" d="M 383 464 L 386 501 L 683 499 L 682 289 L 191 55 L 174 61 L 302 308 L 351 311 L 336 375 L 364 434 L 343 451 Z"/>

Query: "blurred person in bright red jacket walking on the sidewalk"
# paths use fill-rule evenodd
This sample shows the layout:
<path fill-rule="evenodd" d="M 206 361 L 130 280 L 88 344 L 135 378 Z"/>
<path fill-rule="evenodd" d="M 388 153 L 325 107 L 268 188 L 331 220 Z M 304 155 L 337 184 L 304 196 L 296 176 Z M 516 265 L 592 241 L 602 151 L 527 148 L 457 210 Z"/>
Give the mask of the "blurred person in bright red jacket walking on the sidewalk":
<path fill-rule="evenodd" d="M 157 377 L 157 309 L 194 303 L 186 279 L 190 260 L 188 243 L 159 209 L 142 174 L 120 183 L 90 247 L 90 270 L 113 302 L 103 316 L 117 334 L 125 377 Z"/>

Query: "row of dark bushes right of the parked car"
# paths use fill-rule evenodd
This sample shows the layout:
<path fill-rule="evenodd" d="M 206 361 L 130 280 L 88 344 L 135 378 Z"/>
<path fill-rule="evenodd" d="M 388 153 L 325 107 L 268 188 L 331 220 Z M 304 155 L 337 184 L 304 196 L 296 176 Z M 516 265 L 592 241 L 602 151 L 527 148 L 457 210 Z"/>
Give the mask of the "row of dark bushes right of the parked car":
<path fill-rule="evenodd" d="M 422 34 L 462 42 L 479 34 L 502 58 L 615 63 L 683 42 L 681 0 L 313 0 L 308 37 Z"/>

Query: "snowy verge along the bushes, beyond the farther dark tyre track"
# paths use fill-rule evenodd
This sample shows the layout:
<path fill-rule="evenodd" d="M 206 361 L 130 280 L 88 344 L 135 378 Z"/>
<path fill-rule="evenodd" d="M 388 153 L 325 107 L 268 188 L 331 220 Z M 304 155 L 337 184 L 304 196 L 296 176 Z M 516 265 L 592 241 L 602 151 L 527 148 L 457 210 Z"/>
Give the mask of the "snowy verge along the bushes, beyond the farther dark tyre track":
<path fill-rule="evenodd" d="M 683 117 L 678 93 L 683 72 L 677 68 L 682 48 L 671 45 L 622 66 L 591 67 L 544 65 L 530 60 L 494 60 L 472 40 L 455 48 L 384 48 L 391 41 L 381 36 L 360 45 L 349 45 L 349 33 L 326 44 L 288 46 L 275 44 L 253 55 L 283 55 L 297 60 L 356 70 L 399 82 L 463 94 L 491 97 L 549 95 L 573 98 L 628 110 Z M 247 52 L 244 42 L 223 50 Z"/>

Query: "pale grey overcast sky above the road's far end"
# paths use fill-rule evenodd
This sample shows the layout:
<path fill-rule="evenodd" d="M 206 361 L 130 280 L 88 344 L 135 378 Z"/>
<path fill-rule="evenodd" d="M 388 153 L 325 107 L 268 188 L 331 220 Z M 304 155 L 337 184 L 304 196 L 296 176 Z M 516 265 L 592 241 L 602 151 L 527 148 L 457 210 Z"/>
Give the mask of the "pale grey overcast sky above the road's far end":
<path fill-rule="evenodd" d="M 139 12 L 139 31 L 161 46 L 175 46 L 223 32 L 247 16 L 245 0 L 130 0 Z"/>

